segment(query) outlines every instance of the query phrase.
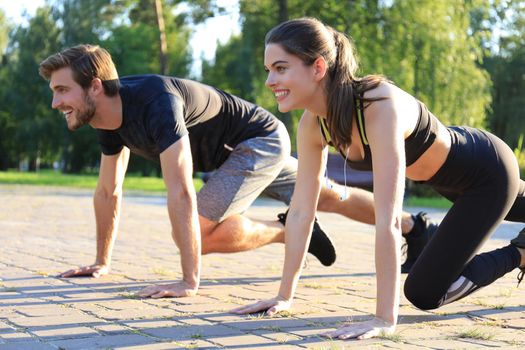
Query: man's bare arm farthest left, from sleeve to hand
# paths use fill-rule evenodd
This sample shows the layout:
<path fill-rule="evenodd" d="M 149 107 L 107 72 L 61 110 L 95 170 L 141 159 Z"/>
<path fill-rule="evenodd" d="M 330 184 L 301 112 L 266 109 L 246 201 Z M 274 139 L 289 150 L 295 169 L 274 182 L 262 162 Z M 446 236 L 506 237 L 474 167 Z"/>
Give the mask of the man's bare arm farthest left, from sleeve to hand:
<path fill-rule="evenodd" d="M 90 266 L 74 268 L 61 277 L 93 276 L 109 273 L 111 253 L 118 232 L 122 184 L 128 167 L 129 149 L 124 147 L 116 155 L 102 154 L 97 188 L 93 197 L 97 226 L 97 256 Z"/>

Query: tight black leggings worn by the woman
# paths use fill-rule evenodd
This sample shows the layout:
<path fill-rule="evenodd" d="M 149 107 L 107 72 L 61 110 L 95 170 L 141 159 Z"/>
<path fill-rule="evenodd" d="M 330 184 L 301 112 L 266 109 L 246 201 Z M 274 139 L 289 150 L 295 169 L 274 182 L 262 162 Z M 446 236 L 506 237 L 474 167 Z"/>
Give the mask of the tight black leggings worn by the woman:
<path fill-rule="evenodd" d="M 405 282 L 406 297 L 425 310 L 460 299 L 520 263 L 513 246 L 475 257 L 503 219 L 525 222 L 525 182 L 514 153 L 488 132 L 449 131 L 447 160 L 425 183 L 454 204 Z"/>

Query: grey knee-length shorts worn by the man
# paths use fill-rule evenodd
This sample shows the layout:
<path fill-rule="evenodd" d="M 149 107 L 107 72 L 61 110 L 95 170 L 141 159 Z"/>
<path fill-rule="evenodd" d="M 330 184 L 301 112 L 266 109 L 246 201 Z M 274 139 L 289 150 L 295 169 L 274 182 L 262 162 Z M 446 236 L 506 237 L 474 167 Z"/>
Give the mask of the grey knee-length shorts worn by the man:
<path fill-rule="evenodd" d="M 297 160 L 290 156 L 290 137 L 279 123 L 266 137 L 238 144 L 197 194 L 199 214 L 221 222 L 242 214 L 264 191 L 290 203 L 297 175 Z"/>

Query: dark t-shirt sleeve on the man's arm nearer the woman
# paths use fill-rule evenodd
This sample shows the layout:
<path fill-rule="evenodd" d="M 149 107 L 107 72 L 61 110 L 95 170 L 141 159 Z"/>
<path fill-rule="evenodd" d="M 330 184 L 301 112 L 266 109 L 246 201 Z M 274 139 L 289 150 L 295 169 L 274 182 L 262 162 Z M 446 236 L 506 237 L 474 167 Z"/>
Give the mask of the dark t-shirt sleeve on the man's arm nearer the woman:
<path fill-rule="evenodd" d="M 188 134 L 184 120 L 184 103 L 179 96 L 162 94 L 148 109 L 148 128 L 160 153 Z"/>

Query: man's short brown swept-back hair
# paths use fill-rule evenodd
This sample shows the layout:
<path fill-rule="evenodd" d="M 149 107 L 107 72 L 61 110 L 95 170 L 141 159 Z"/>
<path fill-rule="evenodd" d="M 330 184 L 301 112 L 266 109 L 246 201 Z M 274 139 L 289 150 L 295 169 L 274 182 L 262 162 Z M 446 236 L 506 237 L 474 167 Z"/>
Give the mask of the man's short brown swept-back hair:
<path fill-rule="evenodd" d="M 109 52 L 98 45 L 78 45 L 55 53 L 40 63 L 38 72 L 49 80 L 53 72 L 66 67 L 71 68 L 73 79 L 83 89 L 99 78 L 107 96 L 117 95 L 120 88 L 117 69 Z"/>

